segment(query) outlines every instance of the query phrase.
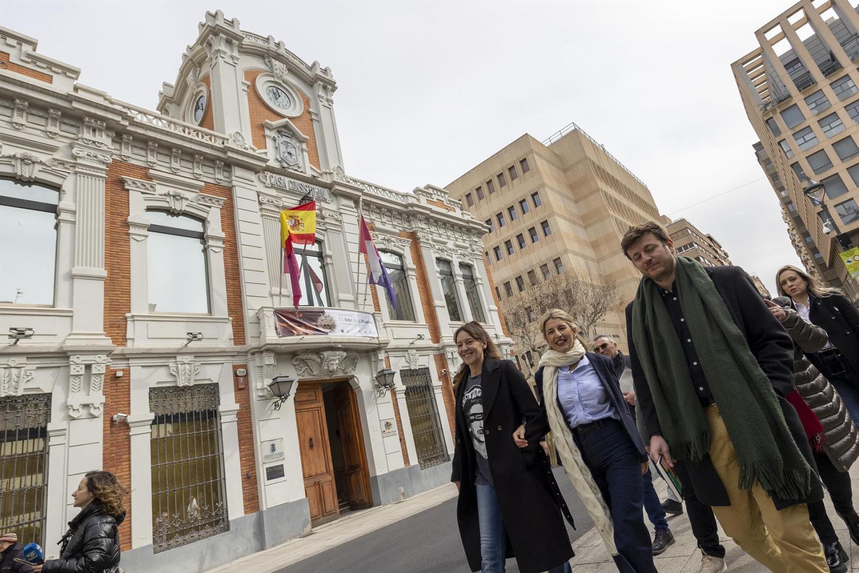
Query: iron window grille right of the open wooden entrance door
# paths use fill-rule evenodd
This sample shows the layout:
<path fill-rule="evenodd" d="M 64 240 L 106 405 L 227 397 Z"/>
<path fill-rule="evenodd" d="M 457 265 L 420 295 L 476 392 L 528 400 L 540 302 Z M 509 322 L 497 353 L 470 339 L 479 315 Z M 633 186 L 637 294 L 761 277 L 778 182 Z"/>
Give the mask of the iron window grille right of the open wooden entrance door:
<path fill-rule="evenodd" d="M 409 410 L 411 435 L 417 449 L 417 463 L 422 470 L 450 459 L 442 434 L 442 419 L 436 407 L 429 368 L 400 370 L 405 386 L 405 405 Z"/>

